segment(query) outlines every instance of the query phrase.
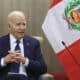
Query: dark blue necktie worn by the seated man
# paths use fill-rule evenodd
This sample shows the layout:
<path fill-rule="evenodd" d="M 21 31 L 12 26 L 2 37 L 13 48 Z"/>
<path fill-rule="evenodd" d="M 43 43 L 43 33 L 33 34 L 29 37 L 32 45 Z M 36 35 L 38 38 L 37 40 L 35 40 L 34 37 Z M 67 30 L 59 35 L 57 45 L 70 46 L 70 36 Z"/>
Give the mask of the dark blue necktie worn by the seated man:
<path fill-rule="evenodd" d="M 20 43 L 20 41 L 19 40 L 17 40 L 16 41 L 16 46 L 15 46 L 15 51 L 16 50 L 21 50 L 20 49 L 20 46 L 19 46 L 19 43 Z M 20 67 L 20 63 L 19 62 L 13 62 L 12 63 L 12 65 L 11 65 L 11 71 L 10 72 L 15 72 L 15 73 L 19 73 L 19 67 Z"/>

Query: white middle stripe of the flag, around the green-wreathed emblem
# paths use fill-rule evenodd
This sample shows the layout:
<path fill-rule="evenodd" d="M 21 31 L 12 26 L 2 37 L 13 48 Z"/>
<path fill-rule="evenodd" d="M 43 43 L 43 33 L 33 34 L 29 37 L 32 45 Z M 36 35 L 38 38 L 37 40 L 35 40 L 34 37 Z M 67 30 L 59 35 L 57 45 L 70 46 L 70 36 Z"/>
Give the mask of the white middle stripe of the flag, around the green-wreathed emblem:
<path fill-rule="evenodd" d="M 69 46 L 80 38 L 80 32 L 78 30 L 69 30 L 67 22 L 63 19 L 64 10 L 68 2 L 67 0 L 62 1 L 51 8 L 42 25 L 43 31 L 56 53 L 64 48 L 62 41 L 65 41 Z"/>

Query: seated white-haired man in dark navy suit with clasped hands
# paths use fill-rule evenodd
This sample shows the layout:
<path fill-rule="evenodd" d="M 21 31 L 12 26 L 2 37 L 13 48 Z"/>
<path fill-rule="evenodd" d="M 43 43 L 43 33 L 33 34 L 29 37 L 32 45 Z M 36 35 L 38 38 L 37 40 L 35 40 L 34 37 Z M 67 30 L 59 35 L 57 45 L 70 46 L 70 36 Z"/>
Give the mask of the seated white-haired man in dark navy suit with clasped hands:
<path fill-rule="evenodd" d="M 8 15 L 8 28 L 9 34 L 0 37 L 0 80 L 5 80 L 10 74 L 20 77 L 24 75 L 26 77 L 24 80 L 38 80 L 39 75 L 47 71 L 47 67 L 39 41 L 25 35 L 24 13 L 11 12 Z M 16 46 L 18 49 L 15 50 Z"/>

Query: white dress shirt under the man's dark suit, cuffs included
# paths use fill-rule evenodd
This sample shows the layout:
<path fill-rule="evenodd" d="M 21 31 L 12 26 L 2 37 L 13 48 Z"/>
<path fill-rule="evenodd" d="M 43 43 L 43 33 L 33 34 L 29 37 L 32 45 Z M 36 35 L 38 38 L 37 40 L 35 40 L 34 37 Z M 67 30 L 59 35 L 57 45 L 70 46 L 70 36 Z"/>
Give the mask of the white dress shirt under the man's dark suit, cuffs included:
<path fill-rule="evenodd" d="M 10 34 L 10 50 L 14 51 L 15 46 L 16 46 L 16 38 L 12 34 Z M 21 49 L 21 55 L 24 56 L 23 39 L 20 40 L 19 46 L 20 46 L 20 49 Z M 29 64 L 29 59 L 28 58 L 26 58 L 26 62 L 24 64 L 20 63 L 20 68 L 19 68 L 19 73 L 20 74 L 24 74 L 24 75 L 27 76 L 27 73 L 25 72 L 24 67 L 25 66 L 27 67 L 28 64 Z M 6 66 L 6 64 L 4 64 L 4 58 L 1 59 L 1 65 Z"/>

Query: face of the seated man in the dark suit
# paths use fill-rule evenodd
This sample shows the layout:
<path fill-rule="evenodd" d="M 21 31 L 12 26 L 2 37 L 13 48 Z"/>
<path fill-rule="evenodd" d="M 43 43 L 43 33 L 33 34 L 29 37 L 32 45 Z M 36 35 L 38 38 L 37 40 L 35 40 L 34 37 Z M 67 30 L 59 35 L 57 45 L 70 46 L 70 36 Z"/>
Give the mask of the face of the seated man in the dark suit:
<path fill-rule="evenodd" d="M 26 30 L 25 16 L 13 16 L 9 23 L 9 30 L 15 38 L 23 38 Z"/>

